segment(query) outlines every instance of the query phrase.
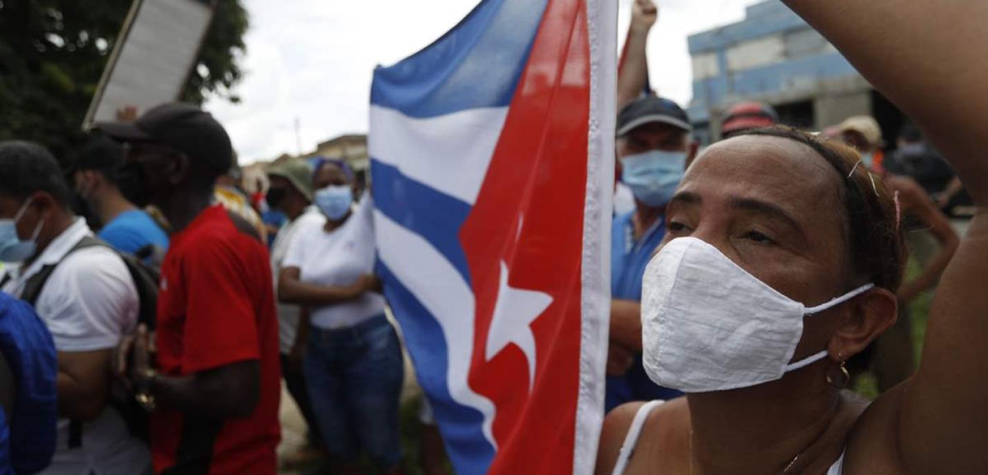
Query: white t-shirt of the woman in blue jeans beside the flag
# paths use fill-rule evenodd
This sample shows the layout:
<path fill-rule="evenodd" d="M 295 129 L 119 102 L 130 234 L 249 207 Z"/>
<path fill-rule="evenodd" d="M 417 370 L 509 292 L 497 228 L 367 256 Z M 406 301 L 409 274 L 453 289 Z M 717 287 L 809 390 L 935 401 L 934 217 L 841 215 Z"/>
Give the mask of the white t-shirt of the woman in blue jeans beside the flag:
<path fill-rule="evenodd" d="M 298 268 L 301 280 L 328 286 L 346 286 L 365 274 L 373 274 L 375 256 L 373 204 L 365 197 L 342 226 L 326 232 L 325 216 L 307 220 L 295 228 L 283 268 Z M 365 292 L 347 302 L 313 307 L 312 326 L 347 328 L 384 313 L 384 297 Z"/>

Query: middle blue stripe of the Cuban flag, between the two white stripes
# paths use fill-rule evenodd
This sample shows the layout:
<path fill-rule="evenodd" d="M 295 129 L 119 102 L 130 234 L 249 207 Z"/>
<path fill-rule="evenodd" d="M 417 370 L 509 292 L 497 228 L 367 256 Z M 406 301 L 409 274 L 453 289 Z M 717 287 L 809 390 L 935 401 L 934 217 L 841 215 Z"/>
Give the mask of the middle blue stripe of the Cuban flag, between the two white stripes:
<path fill-rule="evenodd" d="M 470 213 L 470 205 L 412 180 L 397 168 L 373 158 L 371 177 L 374 206 L 394 222 L 429 241 L 469 285 L 470 272 L 458 233 Z"/>

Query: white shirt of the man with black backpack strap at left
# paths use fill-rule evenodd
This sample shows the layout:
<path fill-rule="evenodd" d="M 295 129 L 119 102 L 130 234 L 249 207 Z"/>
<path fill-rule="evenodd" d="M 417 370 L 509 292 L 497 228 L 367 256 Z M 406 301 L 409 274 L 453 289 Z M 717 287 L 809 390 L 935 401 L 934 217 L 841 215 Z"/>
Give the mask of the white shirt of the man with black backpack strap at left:
<path fill-rule="evenodd" d="M 116 252 L 91 247 L 65 256 L 89 235 L 92 232 L 85 220 L 77 218 L 23 273 L 11 272 L 13 278 L 3 288 L 20 296 L 29 278 L 61 261 L 35 303 L 59 354 L 115 348 L 136 326 L 137 288 Z M 108 406 L 95 420 L 83 424 L 81 447 L 68 447 L 68 427 L 69 420 L 58 420 L 55 453 L 42 474 L 130 475 L 149 469 L 147 446 L 130 436 L 113 408 Z"/>

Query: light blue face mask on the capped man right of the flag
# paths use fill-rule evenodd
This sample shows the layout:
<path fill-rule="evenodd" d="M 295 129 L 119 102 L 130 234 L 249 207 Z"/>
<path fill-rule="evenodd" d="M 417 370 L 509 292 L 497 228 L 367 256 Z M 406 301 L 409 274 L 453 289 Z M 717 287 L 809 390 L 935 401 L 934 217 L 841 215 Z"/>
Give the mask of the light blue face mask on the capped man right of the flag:
<path fill-rule="evenodd" d="M 686 172 L 686 152 L 649 150 L 621 159 L 621 181 L 634 198 L 661 206 L 673 198 Z"/>

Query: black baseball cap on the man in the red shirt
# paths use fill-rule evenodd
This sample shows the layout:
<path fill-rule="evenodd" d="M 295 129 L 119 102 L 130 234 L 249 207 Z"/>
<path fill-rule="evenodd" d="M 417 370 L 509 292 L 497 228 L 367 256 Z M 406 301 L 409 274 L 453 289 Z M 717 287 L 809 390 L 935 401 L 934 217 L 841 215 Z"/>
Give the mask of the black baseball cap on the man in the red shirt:
<path fill-rule="evenodd" d="M 122 142 L 151 142 L 174 148 L 223 173 L 233 163 L 233 145 L 223 126 L 191 104 L 155 106 L 133 122 L 97 122 L 103 133 Z"/>

